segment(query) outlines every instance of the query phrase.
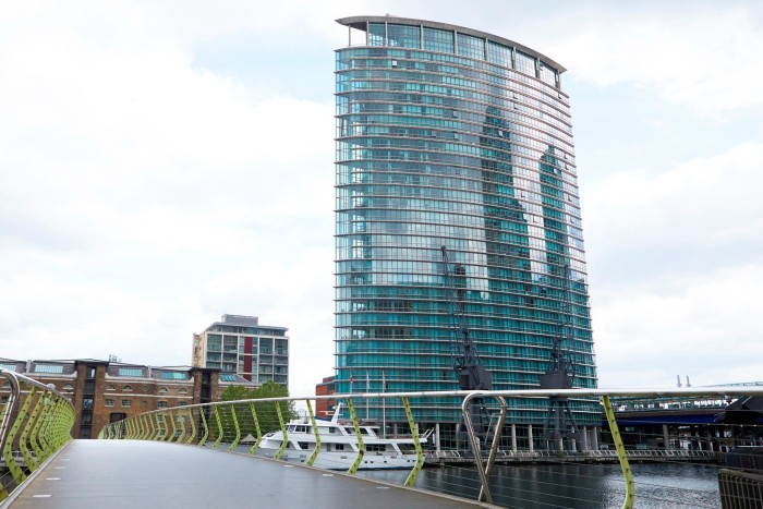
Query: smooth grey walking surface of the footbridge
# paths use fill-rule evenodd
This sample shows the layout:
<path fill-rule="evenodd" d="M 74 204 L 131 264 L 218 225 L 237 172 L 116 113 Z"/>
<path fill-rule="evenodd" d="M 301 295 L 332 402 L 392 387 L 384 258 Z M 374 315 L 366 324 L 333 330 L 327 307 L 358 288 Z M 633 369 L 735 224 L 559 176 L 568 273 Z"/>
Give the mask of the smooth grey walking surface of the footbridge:
<path fill-rule="evenodd" d="M 146 506 L 485 507 L 263 458 L 142 440 L 72 440 L 10 507 Z"/>

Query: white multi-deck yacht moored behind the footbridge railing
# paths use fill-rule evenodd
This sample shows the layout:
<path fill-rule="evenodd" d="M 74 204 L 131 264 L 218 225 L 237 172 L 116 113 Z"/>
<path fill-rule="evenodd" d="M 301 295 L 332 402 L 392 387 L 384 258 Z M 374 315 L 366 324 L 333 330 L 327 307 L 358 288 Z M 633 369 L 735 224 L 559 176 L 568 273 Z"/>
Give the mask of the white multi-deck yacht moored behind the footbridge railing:
<path fill-rule="evenodd" d="M 328 470 L 348 470 L 358 457 L 358 436 L 352 423 L 339 421 L 337 405 L 331 421 L 316 420 L 320 437 L 320 449 L 313 466 Z M 416 462 L 415 445 L 413 437 L 383 438 L 378 426 L 361 424 L 361 436 L 365 446 L 365 455 L 359 469 L 412 469 Z M 306 463 L 315 450 L 315 434 L 310 419 L 302 417 L 290 421 L 286 426 L 288 443 L 282 460 Z M 425 444 L 433 429 L 420 435 L 419 440 Z M 279 449 L 283 440 L 283 433 L 278 431 L 263 436 L 259 445 L 263 452 L 274 456 L 272 449 Z"/>

